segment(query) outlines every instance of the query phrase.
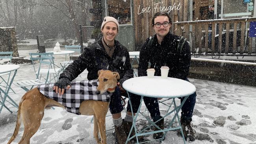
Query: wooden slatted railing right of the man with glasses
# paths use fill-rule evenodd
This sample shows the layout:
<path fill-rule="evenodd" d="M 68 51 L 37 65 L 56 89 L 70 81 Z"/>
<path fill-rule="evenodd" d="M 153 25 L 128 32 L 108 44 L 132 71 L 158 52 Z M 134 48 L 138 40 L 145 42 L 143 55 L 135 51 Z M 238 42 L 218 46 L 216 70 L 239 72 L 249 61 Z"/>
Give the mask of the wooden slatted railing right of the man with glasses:
<path fill-rule="evenodd" d="M 252 37 L 248 36 L 247 26 L 251 21 L 256 21 L 256 17 L 174 22 L 173 25 L 176 35 L 183 35 L 191 42 L 193 55 L 256 56 L 255 48 L 252 50 Z M 211 30 L 208 30 L 210 25 Z"/>

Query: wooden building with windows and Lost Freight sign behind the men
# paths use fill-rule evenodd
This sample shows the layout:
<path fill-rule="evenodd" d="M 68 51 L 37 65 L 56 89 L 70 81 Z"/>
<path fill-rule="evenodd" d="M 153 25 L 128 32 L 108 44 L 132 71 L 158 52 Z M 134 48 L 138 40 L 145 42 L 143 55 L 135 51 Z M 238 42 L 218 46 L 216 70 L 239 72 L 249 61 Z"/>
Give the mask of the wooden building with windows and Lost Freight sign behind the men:
<path fill-rule="evenodd" d="M 250 2 L 247 0 L 93 0 L 93 7 L 102 6 L 102 10 L 100 13 L 98 9 L 91 11 L 93 15 L 91 26 L 99 27 L 105 16 L 115 17 L 119 21 L 120 27 L 117 39 L 130 51 L 137 51 L 148 37 L 154 35 L 152 17 L 158 11 L 169 13 L 173 22 L 171 31 L 177 35 L 184 35 L 192 43 L 192 34 L 201 37 L 204 35 L 204 39 L 206 39 L 206 31 L 207 34 L 211 32 L 211 30 L 208 31 L 210 24 L 216 25 L 213 36 L 217 35 L 216 29 L 219 28 L 217 25 L 220 20 L 216 22 L 214 20 L 255 16 L 254 4 L 254 0 L 250 0 Z M 210 18 L 209 9 L 213 6 L 217 7 L 214 7 L 214 11 L 212 11 L 214 17 Z M 208 21 L 209 19 L 213 19 L 213 21 Z M 205 20 L 200 23 L 200 25 L 205 24 L 201 28 L 198 28 L 197 25 L 193 27 L 193 24 L 183 26 L 184 24 L 177 23 L 199 20 Z M 224 20 L 222 23 L 226 21 L 228 20 Z M 239 22 L 241 23 L 241 21 Z M 239 30 L 244 28 L 244 37 L 246 37 L 249 21 L 244 22 L 243 26 L 240 23 L 235 26 Z M 222 28 L 224 30 L 226 26 Z M 234 24 L 231 24 L 229 29 L 234 30 Z M 252 39 L 252 43 L 253 41 L 255 40 Z M 194 42 L 197 44 L 195 48 L 200 47 L 198 46 L 199 38 Z M 255 42 L 252 45 L 255 45 Z"/>

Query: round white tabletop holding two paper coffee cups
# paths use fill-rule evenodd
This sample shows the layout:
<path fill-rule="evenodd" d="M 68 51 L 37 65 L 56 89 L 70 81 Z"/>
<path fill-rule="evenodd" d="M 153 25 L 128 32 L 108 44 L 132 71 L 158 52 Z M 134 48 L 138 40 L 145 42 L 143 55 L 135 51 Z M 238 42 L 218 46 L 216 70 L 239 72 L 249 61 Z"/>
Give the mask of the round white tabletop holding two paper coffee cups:
<path fill-rule="evenodd" d="M 160 76 L 131 78 L 122 84 L 128 92 L 154 98 L 177 98 L 189 96 L 196 90 L 188 81 L 176 78 L 163 79 Z"/>

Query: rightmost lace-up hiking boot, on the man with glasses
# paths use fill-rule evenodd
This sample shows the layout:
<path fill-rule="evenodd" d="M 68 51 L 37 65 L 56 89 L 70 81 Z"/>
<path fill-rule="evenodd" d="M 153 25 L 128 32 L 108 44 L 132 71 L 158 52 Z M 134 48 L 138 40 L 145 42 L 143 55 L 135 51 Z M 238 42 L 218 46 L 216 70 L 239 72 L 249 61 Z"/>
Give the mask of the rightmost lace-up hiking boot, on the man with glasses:
<path fill-rule="evenodd" d="M 187 140 L 189 138 L 190 142 L 193 142 L 195 140 L 195 129 L 193 129 L 193 124 L 191 123 L 192 118 L 190 120 L 184 120 L 183 118 L 180 118 L 180 123 L 182 126 L 182 131 L 184 133 L 184 138 Z"/>

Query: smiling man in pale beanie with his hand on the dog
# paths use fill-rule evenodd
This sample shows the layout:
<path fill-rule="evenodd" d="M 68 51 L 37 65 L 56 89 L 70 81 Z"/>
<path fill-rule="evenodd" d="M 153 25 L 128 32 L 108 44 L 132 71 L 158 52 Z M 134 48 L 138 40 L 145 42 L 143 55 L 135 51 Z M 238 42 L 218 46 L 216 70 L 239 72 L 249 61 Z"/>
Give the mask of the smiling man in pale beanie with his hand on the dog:
<path fill-rule="evenodd" d="M 121 117 L 121 111 L 123 110 L 121 91 L 125 91 L 122 89 L 122 83 L 127 79 L 133 78 L 133 69 L 127 48 L 115 40 L 119 31 L 117 20 L 113 17 L 105 17 L 101 25 L 101 31 L 103 37 L 85 48 L 82 55 L 60 74 L 59 80 L 54 85 L 54 90 L 56 90 L 56 93 L 63 94 L 65 89 L 70 89 L 70 82 L 86 68 L 88 70 L 88 80 L 97 79 L 98 70 L 118 72 L 120 75 L 119 87 L 115 88 L 115 92 L 111 96 L 109 110 L 113 117 L 118 142 L 119 144 L 124 144 L 127 135 L 126 131 L 124 131 L 126 126 L 124 126 Z"/>

